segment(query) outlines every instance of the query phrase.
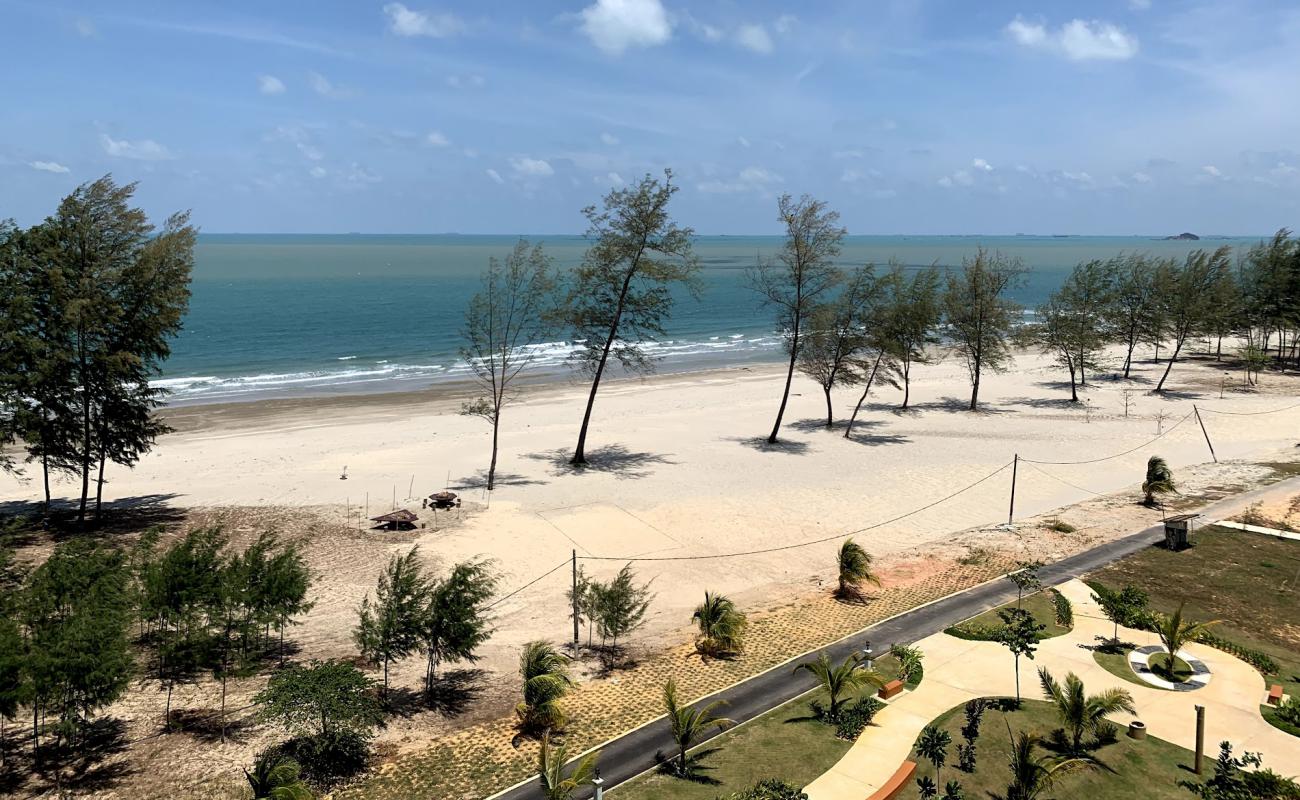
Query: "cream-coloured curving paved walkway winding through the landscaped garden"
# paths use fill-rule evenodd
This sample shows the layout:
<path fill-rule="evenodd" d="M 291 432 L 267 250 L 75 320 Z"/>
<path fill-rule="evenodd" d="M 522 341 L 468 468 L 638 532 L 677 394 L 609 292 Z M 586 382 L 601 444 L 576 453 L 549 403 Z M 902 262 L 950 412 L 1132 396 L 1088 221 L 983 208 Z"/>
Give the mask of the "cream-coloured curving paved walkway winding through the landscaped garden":
<path fill-rule="evenodd" d="M 1264 765 L 1283 774 L 1300 764 L 1300 738 L 1273 727 L 1260 715 L 1268 688 L 1251 665 L 1204 645 L 1187 645 L 1190 653 L 1214 671 L 1209 686 L 1195 692 L 1170 692 L 1138 686 L 1112 675 L 1084 649 L 1109 639 L 1114 627 L 1092 601 L 1080 580 L 1058 587 L 1074 604 L 1074 630 L 1039 645 L 1034 661 L 1020 660 L 1020 695 L 1041 697 L 1037 669 L 1045 666 L 1058 680 L 1066 673 L 1083 679 L 1088 693 L 1109 687 L 1128 691 L 1138 715 L 1121 714 L 1114 722 L 1127 726 L 1141 719 L 1152 736 L 1187 749 L 1196 745 L 1196 705 L 1205 706 L 1205 751 L 1214 758 L 1218 743 L 1232 741 L 1236 752 L 1258 751 Z M 1147 631 L 1119 628 L 1122 639 L 1138 645 L 1158 644 Z M 1014 696 L 1011 656 L 991 641 L 966 641 L 936 633 L 916 643 L 926 653 L 926 678 L 876 714 L 875 722 L 853 748 L 826 774 L 806 787 L 809 800 L 863 800 L 893 775 L 916 740 L 920 728 L 948 709 L 974 697 Z"/>

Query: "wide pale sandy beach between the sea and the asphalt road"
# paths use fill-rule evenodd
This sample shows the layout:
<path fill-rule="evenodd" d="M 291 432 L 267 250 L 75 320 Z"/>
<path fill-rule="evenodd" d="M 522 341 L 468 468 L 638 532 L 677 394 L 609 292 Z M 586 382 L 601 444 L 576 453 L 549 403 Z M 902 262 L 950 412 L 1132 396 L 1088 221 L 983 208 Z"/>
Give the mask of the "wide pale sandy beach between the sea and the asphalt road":
<path fill-rule="evenodd" d="M 954 358 L 918 368 L 913 407 L 901 412 L 901 393 L 874 390 L 852 440 L 842 425 L 824 429 L 820 390 L 797 379 L 783 445 L 760 445 L 779 399 L 777 367 L 615 381 L 597 402 L 589 440 L 592 466 L 567 464 L 581 415 L 582 386 L 532 390 L 507 410 L 502 429 L 500 484 L 490 505 L 477 473 L 488 457 L 489 429 L 456 414 L 459 397 L 404 394 L 322 401 L 278 401 L 198 406 L 168 411 L 177 432 L 166 436 L 133 471 L 114 470 L 105 501 L 152 500 L 186 509 L 191 523 L 224 522 L 235 540 L 273 527 L 304 544 L 317 581 L 316 602 L 290 636 L 300 656 L 356 654 L 351 630 L 356 606 L 373 592 L 394 553 L 419 545 L 432 567 L 471 558 L 495 561 L 502 592 L 529 584 L 493 609 L 497 632 L 477 665 L 488 670 L 486 691 L 458 719 L 421 715 L 394 719 L 382 740 L 389 752 L 410 752 L 450 727 L 508 713 L 519 645 L 572 633 L 564 591 L 567 559 L 577 550 L 590 574 L 607 578 L 625 558 L 719 555 L 807 546 L 729 558 L 647 561 L 633 565 L 651 580 L 655 597 L 647 626 L 630 644 L 634 653 L 689 640 L 692 609 L 706 589 L 725 592 L 742 607 L 775 609 L 824 594 L 833 580 L 833 553 L 855 535 L 876 559 L 887 588 L 906 585 L 950 567 L 971 553 L 1052 559 L 1128 533 L 1160 518 L 1135 505 L 1145 460 L 1164 455 L 1184 492 L 1248 485 L 1269 471 L 1258 463 L 1296 458 L 1300 408 L 1294 377 L 1269 376 L 1244 392 L 1212 360 L 1179 363 L 1165 397 L 1147 394 L 1164 364 L 1141 363 L 1134 381 L 1096 380 L 1067 402 L 1060 371 L 1034 354 L 1020 354 L 1011 372 L 985 379 L 984 410 L 965 410 L 965 367 Z M 1130 410 L 1124 416 L 1123 392 Z M 857 393 L 836 394 L 846 416 Z M 1202 410 L 1221 462 L 1210 453 L 1192 405 Z M 1231 414 L 1219 414 L 1227 411 Z M 1265 414 L 1256 414 L 1256 412 Z M 1162 421 L 1158 418 L 1164 418 Z M 1180 421 L 1182 420 L 1182 421 Z M 1165 431 L 1156 444 L 1140 447 Z M 1006 523 L 1014 454 L 1041 462 L 1074 462 L 1135 451 L 1088 464 L 1018 467 L 1015 518 Z M 341 480 L 343 468 L 347 480 Z M 1005 468 L 1004 468 L 1005 467 Z M 907 514 L 988 480 L 933 507 Z M 419 497 L 448 483 L 465 500 L 460 519 L 439 513 L 437 524 Z M 408 501 L 408 488 L 416 500 Z M 3 479 L 6 500 L 36 500 L 39 484 Z M 60 485 L 60 488 L 64 488 Z M 70 489 L 70 487 L 69 487 Z M 370 514 L 398 505 L 421 514 L 429 527 L 407 533 L 356 529 L 369 493 Z M 1095 497 L 1124 490 L 1119 497 Z M 350 503 L 350 505 L 346 505 Z M 1060 510 L 1060 511 L 1057 511 Z M 351 518 L 348 516 L 351 513 Z M 1060 535 L 1041 528 L 1058 513 L 1079 528 Z M 1036 519 L 1034 519 L 1036 518 Z M 351 519 L 351 522 L 348 522 Z M 880 524 L 880 523 L 885 524 Z M 35 548 L 29 553 L 36 553 Z M 590 665 L 589 665 L 590 666 Z M 424 665 L 395 666 L 396 686 L 416 686 Z M 233 689 L 247 702 L 261 679 Z M 203 705 L 211 682 L 177 691 L 177 708 Z M 161 696 L 133 692 L 113 713 L 134 732 L 156 727 Z M 169 769 L 238 775 L 238 765 L 261 735 L 191 753 L 187 766 L 174 748 L 153 754 Z M 150 747 L 138 752 L 148 761 Z M 183 753 L 185 751 L 179 751 Z"/>

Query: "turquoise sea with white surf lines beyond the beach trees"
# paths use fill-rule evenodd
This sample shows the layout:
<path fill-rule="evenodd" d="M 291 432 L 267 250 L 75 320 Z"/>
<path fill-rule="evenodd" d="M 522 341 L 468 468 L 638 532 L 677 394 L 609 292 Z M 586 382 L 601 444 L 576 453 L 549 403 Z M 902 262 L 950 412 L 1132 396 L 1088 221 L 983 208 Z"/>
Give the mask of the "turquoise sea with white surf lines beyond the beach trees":
<path fill-rule="evenodd" d="M 1183 256 L 1197 247 L 1244 250 L 1261 237 L 1200 242 L 1157 237 L 849 237 L 845 267 L 894 259 L 957 267 L 980 246 L 1030 267 L 1015 299 L 1043 302 L 1070 268 L 1121 251 Z M 421 389 L 465 376 L 458 355 L 465 302 L 489 256 L 514 235 L 204 234 L 195 254 L 185 330 L 156 385 L 170 402 Z M 576 235 L 545 242 L 560 267 L 582 258 Z M 701 237 L 699 300 L 680 298 L 668 336 L 653 345 L 660 371 L 690 371 L 780 358 L 771 312 L 745 284 L 745 268 L 780 247 L 779 237 Z M 543 373 L 566 371 L 571 346 L 551 342 Z"/>

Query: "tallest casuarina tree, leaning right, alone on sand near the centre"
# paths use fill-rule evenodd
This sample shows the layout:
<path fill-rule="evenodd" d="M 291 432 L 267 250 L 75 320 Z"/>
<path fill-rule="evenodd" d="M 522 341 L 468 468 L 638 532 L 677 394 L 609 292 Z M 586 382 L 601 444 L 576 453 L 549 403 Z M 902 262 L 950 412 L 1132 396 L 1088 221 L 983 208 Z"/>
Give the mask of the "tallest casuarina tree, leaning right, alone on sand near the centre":
<path fill-rule="evenodd" d="M 629 372 L 651 371 L 645 343 L 663 336 L 673 289 L 696 290 L 694 232 L 680 228 L 668 213 L 676 193 L 672 172 L 664 170 L 663 181 L 647 174 L 607 194 L 602 209 L 582 211 L 592 245 L 573 271 L 562 312 L 577 343 L 572 363 L 592 376 L 572 464 L 586 463 L 592 408 L 610 358 Z"/>

